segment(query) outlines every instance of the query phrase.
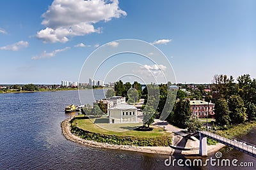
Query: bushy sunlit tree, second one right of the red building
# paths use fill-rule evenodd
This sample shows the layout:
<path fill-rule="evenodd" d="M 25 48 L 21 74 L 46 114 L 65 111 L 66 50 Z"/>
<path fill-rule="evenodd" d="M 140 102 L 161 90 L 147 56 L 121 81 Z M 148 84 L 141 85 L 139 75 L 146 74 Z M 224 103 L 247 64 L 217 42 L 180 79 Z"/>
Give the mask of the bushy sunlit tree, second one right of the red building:
<path fill-rule="evenodd" d="M 230 96 L 228 108 L 230 110 L 229 117 L 232 124 L 241 124 L 246 120 L 246 108 L 244 108 L 244 101 L 240 96 Z"/>

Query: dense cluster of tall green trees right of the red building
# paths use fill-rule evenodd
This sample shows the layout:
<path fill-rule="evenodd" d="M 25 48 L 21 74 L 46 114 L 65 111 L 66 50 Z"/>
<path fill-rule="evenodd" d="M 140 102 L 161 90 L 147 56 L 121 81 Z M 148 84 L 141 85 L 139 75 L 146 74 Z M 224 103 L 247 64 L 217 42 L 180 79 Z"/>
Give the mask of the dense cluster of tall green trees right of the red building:
<path fill-rule="evenodd" d="M 216 95 L 212 96 L 213 100 L 217 103 L 219 99 L 228 101 L 228 114 L 227 108 L 215 106 L 215 117 L 217 124 L 241 124 L 248 120 L 256 119 L 256 79 L 250 78 L 249 74 L 241 75 L 237 78 L 238 83 L 234 83 L 233 76 L 227 78 L 227 75 L 215 75 L 212 90 L 216 91 Z M 221 110 L 222 108 L 222 110 Z M 226 114 L 225 114 L 226 113 Z M 220 118 L 225 115 L 224 118 Z"/>

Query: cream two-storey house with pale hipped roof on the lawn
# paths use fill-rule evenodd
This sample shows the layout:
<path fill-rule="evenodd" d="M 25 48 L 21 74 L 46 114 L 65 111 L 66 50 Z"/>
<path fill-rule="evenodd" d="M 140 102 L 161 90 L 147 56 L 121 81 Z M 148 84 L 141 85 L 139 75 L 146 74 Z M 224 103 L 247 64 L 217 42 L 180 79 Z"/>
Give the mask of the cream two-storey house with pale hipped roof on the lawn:
<path fill-rule="evenodd" d="M 131 104 L 117 104 L 109 108 L 109 124 L 136 123 L 137 108 Z"/>

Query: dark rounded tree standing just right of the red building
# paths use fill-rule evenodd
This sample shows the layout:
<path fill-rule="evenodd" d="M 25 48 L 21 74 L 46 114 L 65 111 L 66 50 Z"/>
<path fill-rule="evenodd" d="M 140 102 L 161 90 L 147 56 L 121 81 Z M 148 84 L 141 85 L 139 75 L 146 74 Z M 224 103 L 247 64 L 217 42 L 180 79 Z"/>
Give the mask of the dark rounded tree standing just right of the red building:
<path fill-rule="evenodd" d="M 228 103 L 225 99 L 218 99 L 214 106 L 215 120 L 217 124 L 228 125 L 230 120 Z"/>

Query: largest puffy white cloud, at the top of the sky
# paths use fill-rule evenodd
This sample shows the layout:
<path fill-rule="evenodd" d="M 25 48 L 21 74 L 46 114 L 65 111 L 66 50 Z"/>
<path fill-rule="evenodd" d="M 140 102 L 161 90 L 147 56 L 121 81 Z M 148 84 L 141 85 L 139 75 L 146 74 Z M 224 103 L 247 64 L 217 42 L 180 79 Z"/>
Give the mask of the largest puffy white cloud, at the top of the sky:
<path fill-rule="evenodd" d="M 72 36 L 99 33 L 101 28 L 93 24 L 127 15 L 118 4 L 118 0 L 54 0 L 42 15 L 45 29 L 38 31 L 36 37 L 44 43 L 65 43 Z"/>

